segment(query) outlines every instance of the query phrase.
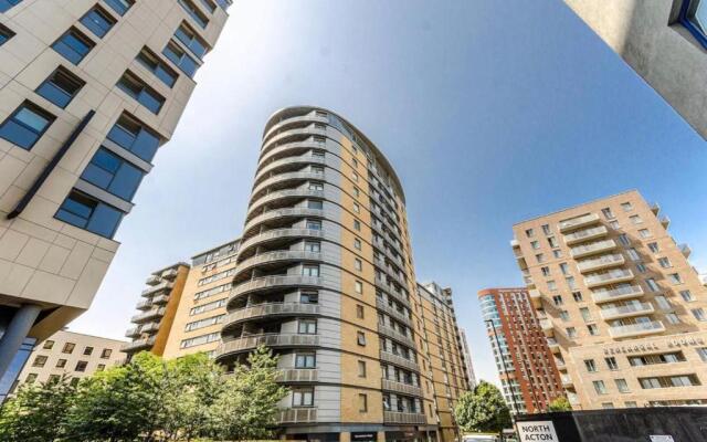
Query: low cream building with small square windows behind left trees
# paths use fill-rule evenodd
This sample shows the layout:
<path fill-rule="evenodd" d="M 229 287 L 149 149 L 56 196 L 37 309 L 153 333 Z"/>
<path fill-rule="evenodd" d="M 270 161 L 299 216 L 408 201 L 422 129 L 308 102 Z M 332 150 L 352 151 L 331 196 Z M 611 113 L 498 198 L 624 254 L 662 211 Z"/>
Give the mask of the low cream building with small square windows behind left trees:
<path fill-rule="evenodd" d="M 123 340 L 59 330 L 34 347 L 18 377 L 18 386 L 46 382 L 63 376 L 71 382 L 77 382 L 124 361 L 123 345 Z"/>

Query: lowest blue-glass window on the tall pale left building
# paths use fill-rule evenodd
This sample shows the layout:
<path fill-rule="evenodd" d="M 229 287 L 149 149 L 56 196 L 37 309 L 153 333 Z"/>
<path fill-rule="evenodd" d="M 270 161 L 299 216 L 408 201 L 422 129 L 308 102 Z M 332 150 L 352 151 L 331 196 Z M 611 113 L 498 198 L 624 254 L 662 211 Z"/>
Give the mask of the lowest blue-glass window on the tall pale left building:
<path fill-rule="evenodd" d="M 113 238 L 123 212 L 74 189 L 54 218 L 101 236 Z"/>

